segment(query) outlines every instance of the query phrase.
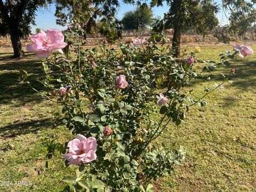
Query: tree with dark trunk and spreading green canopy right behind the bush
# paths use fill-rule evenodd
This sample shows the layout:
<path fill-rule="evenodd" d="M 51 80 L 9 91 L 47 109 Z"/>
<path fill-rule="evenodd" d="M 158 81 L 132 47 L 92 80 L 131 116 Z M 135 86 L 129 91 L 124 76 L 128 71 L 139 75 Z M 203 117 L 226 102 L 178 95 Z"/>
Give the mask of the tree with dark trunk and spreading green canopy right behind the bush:
<path fill-rule="evenodd" d="M 153 0 L 151 6 L 162 6 L 163 1 Z M 218 25 L 216 13 L 219 6 L 211 0 L 167 0 L 170 6 L 169 12 L 163 19 L 157 20 L 153 29 L 161 32 L 164 29 L 173 29 L 172 49 L 175 57 L 180 57 L 180 37 L 183 30 L 191 27 L 198 34 L 206 35 L 207 31 Z"/>

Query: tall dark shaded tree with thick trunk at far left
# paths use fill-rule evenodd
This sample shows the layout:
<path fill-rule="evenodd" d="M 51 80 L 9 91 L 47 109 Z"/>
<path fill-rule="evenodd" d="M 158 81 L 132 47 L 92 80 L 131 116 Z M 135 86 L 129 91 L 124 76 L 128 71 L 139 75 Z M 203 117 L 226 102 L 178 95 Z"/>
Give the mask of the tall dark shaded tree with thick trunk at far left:
<path fill-rule="evenodd" d="M 29 35 L 29 24 L 35 24 L 35 12 L 47 2 L 51 0 L 0 0 L 0 17 L 6 26 L 5 33 L 11 36 L 14 58 L 25 57 L 20 39 Z"/>

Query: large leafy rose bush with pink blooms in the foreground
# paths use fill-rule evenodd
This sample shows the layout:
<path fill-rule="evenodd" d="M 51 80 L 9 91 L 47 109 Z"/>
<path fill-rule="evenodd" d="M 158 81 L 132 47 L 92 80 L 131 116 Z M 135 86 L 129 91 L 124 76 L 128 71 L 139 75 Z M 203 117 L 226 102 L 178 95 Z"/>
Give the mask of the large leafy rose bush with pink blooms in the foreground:
<path fill-rule="evenodd" d="M 196 47 L 175 61 L 162 34 L 153 34 L 152 44 L 121 44 L 121 52 L 109 49 L 107 42 L 98 49 L 82 49 L 84 31 L 71 25 L 66 38 L 73 42 L 68 46 L 74 48 L 75 55 L 52 54 L 52 60 L 43 61 L 45 77 L 35 78 L 45 91 L 34 89 L 30 83 L 33 74 L 22 71 L 21 77 L 21 83 L 63 107 L 62 122 L 76 135 L 63 157 L 67 164 L 79 167 L 76 177 L 63 179 L 69 184 L 65 191 L 154 191 L 151 180 L 170 174 L 185 158 L 181 146 L 167 148 L 154 141 L 167 126 L 184 121 L 190 107 L 205 106 L 205 95 L 221 89 L 228 77 L 223 75 L 221 84 L 205 89 L 199 98 L 193 97 L 192 91 L 183 92 L 182 87 L 191 79 L 209 79 L 204 71 L 229 67 L 228 59 L 239 50 L 227 51 L 214 62 L 194 59 L 200 51 Z M 196 61 L 205 63 L 199 73 L 193 68 Z M 233 73 L 228 69 L 228 75 Z M 49 154 L 56 154 L 54 150 L 63 154 L 60 143 L 51 141 L 49 146 Z M 49 154 L 47 157 L 52 157 Z"/>

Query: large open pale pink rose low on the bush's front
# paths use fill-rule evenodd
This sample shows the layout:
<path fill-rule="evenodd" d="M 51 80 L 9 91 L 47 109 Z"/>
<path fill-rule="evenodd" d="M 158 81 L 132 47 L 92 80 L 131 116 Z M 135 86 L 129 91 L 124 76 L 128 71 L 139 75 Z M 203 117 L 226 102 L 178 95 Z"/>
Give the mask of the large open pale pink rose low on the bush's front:
<path fill-rule="evenodd" d="M 68 147 L 68 153 L 63 154 L 69 161 L 68 164 L 90 163 L 97 158 L 97 141 L 94 137 L 86 138 L 82 134 L 77 134 L 75 139 L 68 142 Z"/>

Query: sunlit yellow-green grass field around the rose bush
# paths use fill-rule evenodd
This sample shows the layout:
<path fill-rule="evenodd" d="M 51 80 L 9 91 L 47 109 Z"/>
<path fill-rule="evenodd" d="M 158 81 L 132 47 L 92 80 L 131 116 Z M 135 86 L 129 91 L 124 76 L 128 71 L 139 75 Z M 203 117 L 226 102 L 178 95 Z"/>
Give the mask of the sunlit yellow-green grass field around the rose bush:
<path fill-rule="evenodd" d="M 256 50 L 256 46 L 252 48 Z M 218 60 L 227 49 L 230 46 L 201 46 L 198 58 Z M 50 133 L 61 142 L 72 135 L 60 124 L 60 107 L 18 84 L 20 69 L 40 73 L 41 63 L 34 54 L 7 59 L 9 51 L 0 53 L 0 191 L 60 191 L 65 186 L 61 179 L 75 174 L 75 166 L 66 168 L 59 156 L 46 168 L 43 143 Z M 170 124 L 158 140 L 170 146 L 175 142 L 187 152 L 183 166 L 155 182 L 158 191 L 256 190 L 256 54 L 215 70 L 213 81 L 192 82 L 185 89 L 201 95 L 205 87 L 220 83 L 220 73 L 230 68 L 236 68 L 233 84 L 207 96 L 207 106 L 191 108 L 187 121 L 178 127 Z M 4 181 L 12 181 L 12 185 Z M 27 185 L 14 185 L 15 181 Z"/>

